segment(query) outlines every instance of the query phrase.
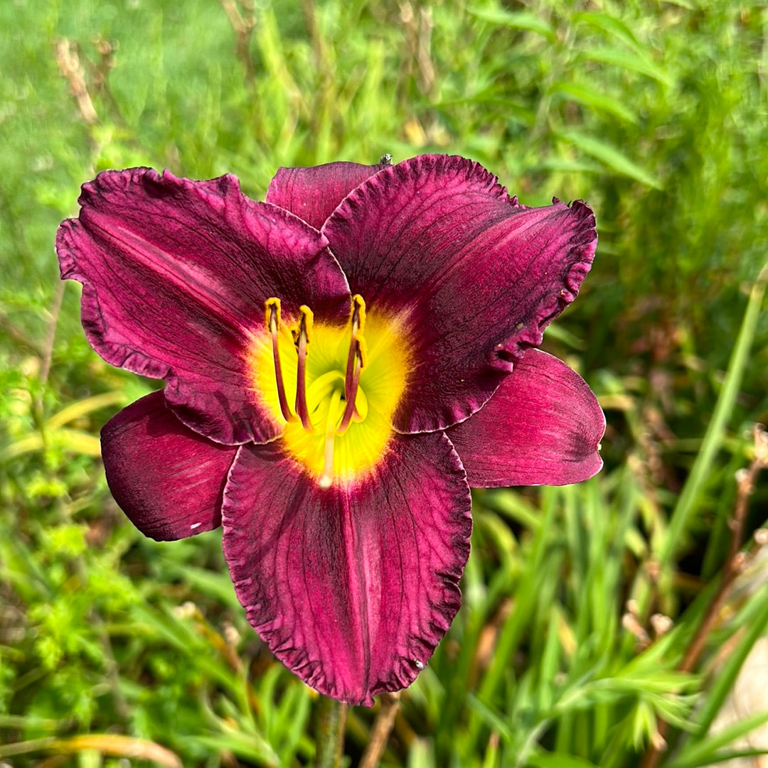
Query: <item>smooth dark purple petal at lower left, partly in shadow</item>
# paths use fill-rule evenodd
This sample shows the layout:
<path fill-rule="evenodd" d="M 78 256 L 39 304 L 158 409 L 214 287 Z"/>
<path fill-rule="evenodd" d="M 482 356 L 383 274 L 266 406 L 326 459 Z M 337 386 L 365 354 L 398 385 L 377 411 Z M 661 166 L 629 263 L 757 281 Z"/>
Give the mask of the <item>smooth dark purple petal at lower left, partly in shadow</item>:
<path fill-rule="evenodd" d="M 101 430 L 107 482 L 141 533 L 174 541 L 221 525 L 221 500 L 237 447 L 185 427 L 152 392 Z"/>

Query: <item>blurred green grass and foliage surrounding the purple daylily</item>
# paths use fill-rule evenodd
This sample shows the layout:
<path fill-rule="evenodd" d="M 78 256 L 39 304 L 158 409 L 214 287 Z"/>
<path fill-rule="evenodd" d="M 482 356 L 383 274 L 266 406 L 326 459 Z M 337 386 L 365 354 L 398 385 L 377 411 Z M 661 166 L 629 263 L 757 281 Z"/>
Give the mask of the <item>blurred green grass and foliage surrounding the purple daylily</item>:
<path fill-rule="evenodd" d="M 0 4 L 0 762 L 314 753 L 317 699 L 244 621 L 218 535 L 148 541 L 108 495 L 98 429 L 154 385 L 92 353 L 58 281 L 79 184 L 231 171 L 260 198 L 281 164 L 424 151 L 595 207 L 546 347 L 600 397 L 606 466 L 477 492 L 463 607 L 384 764 L 749 753 L 768 712 L 710 726 L 768 623 L 766 40 L 766 4 L 727 0 Z M 376 717 L 351 711 L 351 763 Z"/>

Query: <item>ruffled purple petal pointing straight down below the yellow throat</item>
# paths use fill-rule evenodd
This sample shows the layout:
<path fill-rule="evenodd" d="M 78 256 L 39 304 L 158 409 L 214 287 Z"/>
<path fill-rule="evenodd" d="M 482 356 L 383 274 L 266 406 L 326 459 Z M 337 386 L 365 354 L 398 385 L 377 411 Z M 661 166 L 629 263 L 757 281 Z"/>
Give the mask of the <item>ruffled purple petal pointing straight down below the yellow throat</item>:
<path fill-rule="evenodd" d="M 319 488 L 279 441 L 244 445 L 223 521 L 248 621 L 321 694 L 370 706 L 410 685 L 458 610 L 470 497 L 442 433 L 398 436 L 348 488 Z"/>

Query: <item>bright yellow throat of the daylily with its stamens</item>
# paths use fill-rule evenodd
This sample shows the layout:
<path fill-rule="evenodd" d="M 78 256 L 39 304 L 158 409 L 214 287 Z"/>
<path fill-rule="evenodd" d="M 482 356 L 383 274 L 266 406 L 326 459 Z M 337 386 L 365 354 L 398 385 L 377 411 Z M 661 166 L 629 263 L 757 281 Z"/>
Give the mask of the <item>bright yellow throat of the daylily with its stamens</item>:
<path fill-rule="evenodd" d="M 254 389 L 284 423 L 288 452 L 321 488 L 371 472 L 387 452 L 405 389 L 401 323 L 367 314 L 353 296 L 345 327 L 314 323 L 308 306 L 284 323 L 278 298 L 266 301 L 264 325 L 251 354 Z"/>

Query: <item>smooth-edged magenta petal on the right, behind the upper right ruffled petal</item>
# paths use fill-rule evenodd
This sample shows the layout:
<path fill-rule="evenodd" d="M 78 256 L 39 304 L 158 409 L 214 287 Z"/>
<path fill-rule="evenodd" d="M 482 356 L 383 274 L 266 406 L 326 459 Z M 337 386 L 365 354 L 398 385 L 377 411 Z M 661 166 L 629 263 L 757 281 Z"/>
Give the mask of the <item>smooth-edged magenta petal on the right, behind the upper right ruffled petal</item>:
<path fill-rule="evenodd" d="M 567 485 L 600 471 L 605 430 L 597 398 L 577 372 L 530 349 L 494 396 L 447 430 L 474 488 Z"/>

